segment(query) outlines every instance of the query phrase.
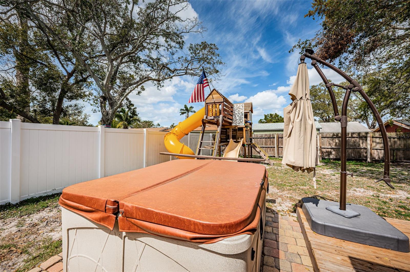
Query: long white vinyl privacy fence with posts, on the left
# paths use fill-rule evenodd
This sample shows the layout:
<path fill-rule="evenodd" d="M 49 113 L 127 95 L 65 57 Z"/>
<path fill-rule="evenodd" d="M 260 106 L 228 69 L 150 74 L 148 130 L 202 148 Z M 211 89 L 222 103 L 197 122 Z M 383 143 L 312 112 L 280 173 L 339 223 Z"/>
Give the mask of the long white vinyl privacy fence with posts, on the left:
<path fill-rule="evenodd" d="M 166 132 L 0 121 L 0 203 L 170 160 Z"/>

